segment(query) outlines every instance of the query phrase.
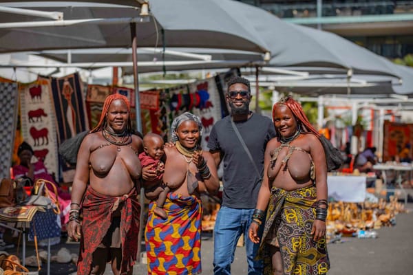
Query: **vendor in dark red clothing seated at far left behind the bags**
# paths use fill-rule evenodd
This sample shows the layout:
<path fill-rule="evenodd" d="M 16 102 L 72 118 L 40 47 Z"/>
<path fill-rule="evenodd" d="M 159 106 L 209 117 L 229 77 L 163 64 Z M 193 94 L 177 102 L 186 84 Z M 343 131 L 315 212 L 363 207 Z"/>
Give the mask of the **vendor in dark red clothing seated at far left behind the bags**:
<path fill-rule="evenodd" d="M 16 164 L 12 167 L 14 178 L 28 178 L 32 182 L 36 181 L 37 179 L 45 179 L 47 181 L 50 181 L 50 183 L 48 183 L 47 181 L 45 181 L 45 183 L 47 189 L 51 192 L 54 192 L 54 188 L 51 184 L 54 184 L 54 186 L 56 186 L 61 210 L 61 224 L 63 230 L 65 230 L 65 227 L 63 225 L 65 225 L 65 223 L 69 221 L 70 193 L 63 190 L 59 186 L 59 184 L 56 184 L 56 181 L 54 181 L 52 175 L 47 172 L 47 168 L 45 164 L 43 164 L 43 162 L 41 162 L 40 160 L 32 162 L 33 154 L 34 152 L 32 146 L 30 146 L 30 144 L 28 144 L 27 142 L 22 142 L 19 145 L 17 155 L 19 156 L 20 164 Z"/>

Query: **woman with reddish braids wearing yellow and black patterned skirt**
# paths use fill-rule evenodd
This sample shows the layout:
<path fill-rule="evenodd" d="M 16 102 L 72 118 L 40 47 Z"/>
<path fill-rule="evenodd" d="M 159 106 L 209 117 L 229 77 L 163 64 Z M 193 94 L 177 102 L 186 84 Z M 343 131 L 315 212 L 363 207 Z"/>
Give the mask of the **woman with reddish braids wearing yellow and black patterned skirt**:
<path fill-rule="evenodd" d="M 269 186 L 261 186 L 249 237 L 261 241 L 264 274 L 326 274 L 327 164 L 320 135 L 290 97 L 274 105 L 273 121 L 278 137 L 264 158 Z"/>

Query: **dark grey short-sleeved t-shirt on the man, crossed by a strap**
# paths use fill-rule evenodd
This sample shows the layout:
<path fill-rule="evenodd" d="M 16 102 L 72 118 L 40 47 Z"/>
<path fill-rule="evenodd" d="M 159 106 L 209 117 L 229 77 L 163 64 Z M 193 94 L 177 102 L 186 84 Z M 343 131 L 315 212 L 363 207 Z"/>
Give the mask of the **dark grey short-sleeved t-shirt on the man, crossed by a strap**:
<path fill-rule="evenodd" d="M 248 120 L 235 122 L 255 165 L 261 173 L 257 175 L 251 160 L 240 143 L 232 125 L 231 115 L 214 124 L 208 140 L 210 151 L 221 151 L 224 175 L 222 182 L 222 206 L 231 208 L 255 208 L 264 170 L 266 144 L 275 137 L 274 124 L 270 118 L 253 113 Z"/>

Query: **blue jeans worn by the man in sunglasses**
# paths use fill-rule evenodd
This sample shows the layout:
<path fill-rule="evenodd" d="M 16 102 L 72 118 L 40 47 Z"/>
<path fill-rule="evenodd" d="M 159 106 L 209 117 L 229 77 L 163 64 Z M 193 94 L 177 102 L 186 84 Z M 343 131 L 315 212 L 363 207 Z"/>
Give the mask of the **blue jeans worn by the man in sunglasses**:
<path fill-rule="evenodd" d="M 262 261 L 254 261 L 260 245 L 248 238 L 253 212 L 254 209 L 221 207 L 213 231 L 213 273 L 215 275 L 231 274 L 235 248 L 242 233 L 244 233 L 248 275 L 262 274 Z"/>

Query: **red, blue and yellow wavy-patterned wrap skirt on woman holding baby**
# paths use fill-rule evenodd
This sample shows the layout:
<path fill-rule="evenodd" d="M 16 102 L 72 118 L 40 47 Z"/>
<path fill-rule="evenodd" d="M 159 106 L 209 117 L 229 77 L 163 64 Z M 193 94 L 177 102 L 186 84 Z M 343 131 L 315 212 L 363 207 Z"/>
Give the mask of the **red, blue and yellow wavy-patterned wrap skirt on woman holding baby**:
<path fill-rule="evenodd" d="M 148 274 L 200 274 L 200 199 L 169 193 L 163 207 L 167 219 L 158 217 L 155 207 L 151 201 L 145 228 Z"/>

